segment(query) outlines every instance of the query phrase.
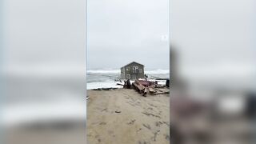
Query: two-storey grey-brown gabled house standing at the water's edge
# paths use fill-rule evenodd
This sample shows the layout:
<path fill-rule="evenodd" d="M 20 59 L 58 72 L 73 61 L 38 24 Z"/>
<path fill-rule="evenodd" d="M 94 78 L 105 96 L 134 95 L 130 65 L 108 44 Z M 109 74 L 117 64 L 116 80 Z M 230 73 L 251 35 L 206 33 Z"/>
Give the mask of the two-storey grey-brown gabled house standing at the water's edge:
<path fill-rule="evenodd" d="M 130 62 L 121 67 L 121 78 L 135 80 L 144 78 L 144 66 L 138 62 Z"/>

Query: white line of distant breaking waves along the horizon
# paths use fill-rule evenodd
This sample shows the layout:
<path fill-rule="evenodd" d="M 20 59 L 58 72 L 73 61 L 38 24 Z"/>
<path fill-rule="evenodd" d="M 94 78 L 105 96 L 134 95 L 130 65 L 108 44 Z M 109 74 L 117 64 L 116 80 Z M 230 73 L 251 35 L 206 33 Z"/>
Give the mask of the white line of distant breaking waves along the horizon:
<path fill-rule="evenodd" d="M 87 70 L 87 74 L 119 74 L 120 70 Z M 145 74 L 169 74 L 170 70 L 146 70 Z"/>

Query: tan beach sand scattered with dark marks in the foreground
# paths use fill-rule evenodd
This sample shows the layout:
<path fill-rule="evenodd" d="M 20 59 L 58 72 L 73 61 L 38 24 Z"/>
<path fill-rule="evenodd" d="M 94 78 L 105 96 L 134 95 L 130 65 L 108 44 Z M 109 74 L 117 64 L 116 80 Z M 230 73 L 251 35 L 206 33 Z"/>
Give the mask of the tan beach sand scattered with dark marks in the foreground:
<path fill-rule="evenodd" d="M 88 90 L 90 144 L 170 143 L 169 94 L 142 97 L 134 90 Z"/>

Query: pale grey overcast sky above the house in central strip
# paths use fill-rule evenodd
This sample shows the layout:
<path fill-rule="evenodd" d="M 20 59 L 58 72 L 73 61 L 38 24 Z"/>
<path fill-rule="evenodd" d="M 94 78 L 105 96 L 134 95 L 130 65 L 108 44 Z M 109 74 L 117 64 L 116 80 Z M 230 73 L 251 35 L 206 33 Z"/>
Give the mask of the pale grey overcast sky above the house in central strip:
<path fill-rule="evenodd" d="M 169 0 L 88 0 L 88 69 L 169 69 Z"/>

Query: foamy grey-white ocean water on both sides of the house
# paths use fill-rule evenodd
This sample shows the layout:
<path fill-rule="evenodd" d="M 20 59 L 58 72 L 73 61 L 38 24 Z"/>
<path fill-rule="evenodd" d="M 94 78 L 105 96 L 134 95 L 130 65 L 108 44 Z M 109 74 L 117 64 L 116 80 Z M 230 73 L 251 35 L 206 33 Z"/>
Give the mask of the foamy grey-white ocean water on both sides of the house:
<path fill-rule="evenodd" d="M 146 70 L 150 79 L 170 78 L 170 70 Z M 87 70 L 87 90 L 97 88 L 122 88 L 116 85 L 115 79 L 120 78 L 120 70 Z"/>

